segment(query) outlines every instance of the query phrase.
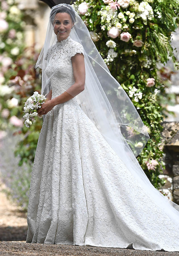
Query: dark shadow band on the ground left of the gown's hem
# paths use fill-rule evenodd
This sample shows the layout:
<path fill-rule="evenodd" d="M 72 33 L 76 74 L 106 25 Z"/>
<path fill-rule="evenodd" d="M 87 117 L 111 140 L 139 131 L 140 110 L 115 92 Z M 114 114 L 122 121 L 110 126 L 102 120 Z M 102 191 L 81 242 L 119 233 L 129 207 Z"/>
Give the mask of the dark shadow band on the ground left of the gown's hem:
<path fill-rule="evenodd" d="M 27 236 L 27 226 L 0 226 L 0 241 L 24 241 Z"/>

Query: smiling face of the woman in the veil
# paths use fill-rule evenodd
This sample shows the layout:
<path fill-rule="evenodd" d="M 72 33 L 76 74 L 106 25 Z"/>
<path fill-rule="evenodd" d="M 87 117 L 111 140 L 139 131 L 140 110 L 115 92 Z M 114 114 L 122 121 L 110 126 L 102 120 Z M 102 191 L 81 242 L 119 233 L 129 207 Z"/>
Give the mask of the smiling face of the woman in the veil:
<path fill-rule="evenodd" d="M 58 42 L 61 42 L 69 36 L 73 25 L 74 23 L 68 13 L 57 13 L 55 15 L 53 29 L 57 35 Z"/>

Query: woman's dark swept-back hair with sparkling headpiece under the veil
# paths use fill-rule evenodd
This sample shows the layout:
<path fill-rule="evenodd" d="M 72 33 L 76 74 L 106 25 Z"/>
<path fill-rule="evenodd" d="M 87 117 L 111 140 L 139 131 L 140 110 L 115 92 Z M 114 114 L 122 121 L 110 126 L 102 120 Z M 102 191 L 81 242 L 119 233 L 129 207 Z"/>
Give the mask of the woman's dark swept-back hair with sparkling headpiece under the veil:
<path fill-rule="evenodd" d="M 55 19 L 55 15 L 57 13 L 68 13 L 72 19 L 72 22 L 75 23 L 76 22 L 76 15 L 74 12 L 74 9 L 72 8 L 72 6 L 67 5 L 67 4 L 59 4 L 59 5 L 55 5 L 52 9 L 51 9 L 51 13 L 50 13 L 50 22 L 53 24 L 53 21 Z"/>

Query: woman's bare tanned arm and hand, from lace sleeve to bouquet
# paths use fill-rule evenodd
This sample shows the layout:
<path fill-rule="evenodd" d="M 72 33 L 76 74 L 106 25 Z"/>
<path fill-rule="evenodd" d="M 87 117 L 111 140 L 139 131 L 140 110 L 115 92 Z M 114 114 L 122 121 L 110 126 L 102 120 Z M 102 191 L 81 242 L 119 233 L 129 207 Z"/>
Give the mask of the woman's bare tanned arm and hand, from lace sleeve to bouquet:
<path fill-rule="evenodd" d="M 84 55 L 77 53 L 75 56 L 71 58 L 71 60 L 72 60 L 75 83 L 66 92 L 55 97 L 54 99 L 51 99 L 50 97 L 51 91 L 50 91 L 49 94 L 47 95 L 47 97 L 49 97 L 50 100 L 43 103 L 41 108 L 39 108 L 38 110 L 39 115 L 47 114 L 47 112 L 52 110 L 54 106 L 64 103 L 66 101 L 69 101 L 70 99 L 74 98 L 76 95 L 78 95 L 80 92 L 84 90 L 84 85 L 85 85 Z"/>

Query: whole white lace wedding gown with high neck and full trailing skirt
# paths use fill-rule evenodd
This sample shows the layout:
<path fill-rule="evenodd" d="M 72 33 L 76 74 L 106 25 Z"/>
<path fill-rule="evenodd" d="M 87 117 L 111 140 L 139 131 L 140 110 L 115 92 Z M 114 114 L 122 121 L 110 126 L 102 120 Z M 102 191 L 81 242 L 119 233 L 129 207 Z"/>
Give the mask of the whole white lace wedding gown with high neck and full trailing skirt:
<path fill-rule="evenodd" d="M 83 52 L 70 37 L 55 49 L 46 69 L 52 98 L 74 83 L 71 57 Z M 179 251 L 178 234 L 75 98 L 47 113 L 32 171 L 27 242 Z"/>

